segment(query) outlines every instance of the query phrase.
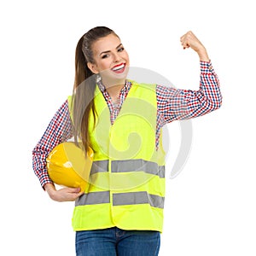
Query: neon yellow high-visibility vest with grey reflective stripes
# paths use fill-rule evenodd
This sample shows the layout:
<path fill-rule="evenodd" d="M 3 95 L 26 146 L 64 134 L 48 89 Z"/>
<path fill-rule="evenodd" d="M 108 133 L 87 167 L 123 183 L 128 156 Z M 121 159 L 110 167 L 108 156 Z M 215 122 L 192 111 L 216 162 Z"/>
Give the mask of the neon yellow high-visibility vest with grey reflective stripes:
<path fill-rule="evenodd" d="M 95 127 L 92 113 L 89 119 L 94 150 L 90 186 L 75 202 L 73 230 L 117 226 L 123 230 L 162 231 L 165 151 L 161 136 L 159 149 L 155 148 L 155 88 L 155 84 L 132 81 L 111 125 L 107 102 L 96 86 Z M 69 104 L 71 101 L 69 97 Z"/>

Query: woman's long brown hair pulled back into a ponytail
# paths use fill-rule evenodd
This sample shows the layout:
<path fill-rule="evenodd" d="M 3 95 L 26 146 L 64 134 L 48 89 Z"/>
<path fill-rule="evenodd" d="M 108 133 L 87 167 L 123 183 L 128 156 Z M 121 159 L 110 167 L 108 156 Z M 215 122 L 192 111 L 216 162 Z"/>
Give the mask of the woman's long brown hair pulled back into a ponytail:
<path fill-rule="evenodd" d="M 75 53 L 75 79 L 73 86 L 72 109 L 73 109 L 73 135 L 75 143 L 81 139 L 86 152 L 90 147 L 88 131 L 90 111 L 96 123 L 96 108 L 94 104 L 94 93 L 96 89 L 96 74 L 90 71 L 88 62 L 93 63 L 93 52 L 91 46 L 99 38 L 109 34 L 118 35 L 106 26 L 96 26 L 86 32 L 79 39 Z"/>

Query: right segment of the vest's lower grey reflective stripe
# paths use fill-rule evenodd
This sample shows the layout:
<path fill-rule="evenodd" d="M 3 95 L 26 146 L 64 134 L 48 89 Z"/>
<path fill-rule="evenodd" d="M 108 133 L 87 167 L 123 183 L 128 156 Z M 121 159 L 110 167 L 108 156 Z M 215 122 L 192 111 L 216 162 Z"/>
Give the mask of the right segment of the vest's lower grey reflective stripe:
<path fill-rule="evenodd" d="M 165 198 L 148 194 L 146 191 L 113 194 L 113 206 L 150 204 L 151 207 L 164 208 Z"/>

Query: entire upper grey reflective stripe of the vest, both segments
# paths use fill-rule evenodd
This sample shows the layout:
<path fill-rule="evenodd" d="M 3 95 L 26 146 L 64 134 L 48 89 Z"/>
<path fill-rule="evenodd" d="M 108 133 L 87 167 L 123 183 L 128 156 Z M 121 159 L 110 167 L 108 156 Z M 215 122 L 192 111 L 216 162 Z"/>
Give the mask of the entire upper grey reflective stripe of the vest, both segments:
<path fill-rule="evenodd" d="M 90 174 L 97 172 L 108 172 L 108 160 L 98 160 L 92 163 Z M 111 162 L 111 172 L 146 172 L 165 177 L 165 166 L 158 166 L 155 162 L 142 159 L 113 160 Z"/>

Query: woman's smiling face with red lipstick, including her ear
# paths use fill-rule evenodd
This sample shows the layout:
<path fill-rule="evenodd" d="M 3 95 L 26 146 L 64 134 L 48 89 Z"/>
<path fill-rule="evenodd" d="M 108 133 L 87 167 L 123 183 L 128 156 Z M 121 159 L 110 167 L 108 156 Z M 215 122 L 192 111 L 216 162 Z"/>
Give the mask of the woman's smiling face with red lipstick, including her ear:
<path fill-rule="evenodd" d="M 120 39 L 110 34 L 92 44 L 94 62 L 88 63 L 93 73 L 101 73 L 102 82 L 123 83 L 129 70 L 129 56 Z"/>

